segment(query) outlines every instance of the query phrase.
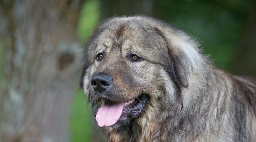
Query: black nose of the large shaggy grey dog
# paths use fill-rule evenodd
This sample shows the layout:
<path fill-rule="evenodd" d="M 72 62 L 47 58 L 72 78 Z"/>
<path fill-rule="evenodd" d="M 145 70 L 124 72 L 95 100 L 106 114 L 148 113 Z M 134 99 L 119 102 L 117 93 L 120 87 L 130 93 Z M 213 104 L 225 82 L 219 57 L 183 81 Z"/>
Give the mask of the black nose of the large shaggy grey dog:
<path fill-rule="evenodd" d="M 105 73 L 94 74 L 91 78 L 91 85 L 95 91 L 103 92 L 111 88 L 112 77 Z"/>

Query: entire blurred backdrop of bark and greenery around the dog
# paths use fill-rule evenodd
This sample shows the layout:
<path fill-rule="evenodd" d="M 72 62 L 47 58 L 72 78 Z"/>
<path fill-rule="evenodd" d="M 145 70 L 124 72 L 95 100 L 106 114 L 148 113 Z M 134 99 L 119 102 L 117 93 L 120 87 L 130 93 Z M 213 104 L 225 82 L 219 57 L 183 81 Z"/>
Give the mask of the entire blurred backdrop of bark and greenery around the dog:
<path fill-rule="evenodd" d="M 79 89 L 82 47 L 123 15 L 166 21 L 220 69 L 256 78 L 252 0 L 0 0 L 0 141 L 104 141 Z"/>

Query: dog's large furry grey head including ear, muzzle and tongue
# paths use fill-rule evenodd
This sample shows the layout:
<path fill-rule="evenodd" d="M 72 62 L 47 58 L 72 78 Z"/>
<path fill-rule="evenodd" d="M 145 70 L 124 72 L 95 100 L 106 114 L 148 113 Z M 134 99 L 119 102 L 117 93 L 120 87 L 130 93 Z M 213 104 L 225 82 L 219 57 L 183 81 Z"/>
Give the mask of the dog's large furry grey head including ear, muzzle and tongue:
<path fill-rule="evenodd" d="M 84 49 L 80 83 L 98 125 L 116 128 L 145 115 L 175 113 L 200 62 L 196 47 L 153 18 L 115 17 L 100 24 Z"/>

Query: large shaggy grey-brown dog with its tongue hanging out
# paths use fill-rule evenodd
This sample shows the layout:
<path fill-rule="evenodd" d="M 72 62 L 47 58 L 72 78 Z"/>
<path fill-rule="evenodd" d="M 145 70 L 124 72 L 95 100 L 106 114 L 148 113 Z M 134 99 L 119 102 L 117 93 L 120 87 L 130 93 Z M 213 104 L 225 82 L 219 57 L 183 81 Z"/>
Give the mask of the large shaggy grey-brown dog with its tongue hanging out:
<path fill-rule="evenodd" d="M 256 141 L 256 84 L 213 66 L 184 32 L 114 17 L 84 48 L 81 88 L 108 141 Z"/>

